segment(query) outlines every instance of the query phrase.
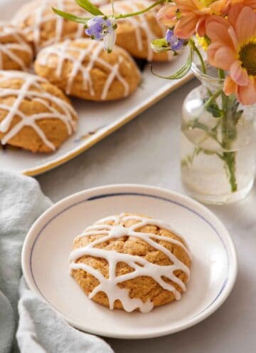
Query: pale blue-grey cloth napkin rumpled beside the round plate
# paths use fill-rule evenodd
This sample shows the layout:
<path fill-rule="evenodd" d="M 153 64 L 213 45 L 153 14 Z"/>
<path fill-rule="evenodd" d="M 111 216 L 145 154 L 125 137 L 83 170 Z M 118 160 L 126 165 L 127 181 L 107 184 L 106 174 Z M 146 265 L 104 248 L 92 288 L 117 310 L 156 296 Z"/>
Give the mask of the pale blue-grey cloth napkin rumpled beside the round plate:
<path fill-rule="evenodd" d="M 23 240 L 50 205 L 36 180 L 0 171 L 0 353 L 113 353 L 70 327 L 21 278 Z"/>

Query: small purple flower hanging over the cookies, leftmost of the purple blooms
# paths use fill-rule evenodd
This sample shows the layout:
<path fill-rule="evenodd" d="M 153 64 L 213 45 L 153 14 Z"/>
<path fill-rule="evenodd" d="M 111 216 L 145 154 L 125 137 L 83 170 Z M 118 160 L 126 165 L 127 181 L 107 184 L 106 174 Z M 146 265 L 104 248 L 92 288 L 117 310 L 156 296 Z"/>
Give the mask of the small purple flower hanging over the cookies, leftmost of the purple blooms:
<path fill-rule="evenodd" d="M 93 17 L 87 22 L 85 33 L 87 36 L 90 36 L 92 39 L 100 39 L 105 38 L 107 34 L 110 34 L 114 31 L 113 23 L 111 19 L 102 16 Z"/>

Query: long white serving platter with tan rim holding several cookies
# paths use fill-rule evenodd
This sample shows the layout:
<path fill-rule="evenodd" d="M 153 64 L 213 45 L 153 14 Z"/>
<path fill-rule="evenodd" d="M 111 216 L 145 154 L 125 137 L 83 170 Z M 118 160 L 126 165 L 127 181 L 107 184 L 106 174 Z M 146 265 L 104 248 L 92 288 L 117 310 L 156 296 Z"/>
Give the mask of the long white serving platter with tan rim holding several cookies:
<path fill-rule="evenodd" d="M 10 19 L 16 9 L 27 1 L 1 0 L 0 19 Z M 162 75 L 174 73 L 185 63 L 187 57 L 188 50 L 178 56 L 174 63 L 154 64 L 154 69 Z M 152 75 L 147 66 L 143 73 L 142 86 L 129 98 L 112 103 L 73 100 L 80 117 L 78 131 L 75 135 L 69 138 L 58 151 L 48 155 L 0 148 L 1 168 L 27 175 L 38 175 L 55 168 L 116 131 L 191 77 L 192 73 L 188 73 L 186 77 L 178 81 L 163 80 Z"/>

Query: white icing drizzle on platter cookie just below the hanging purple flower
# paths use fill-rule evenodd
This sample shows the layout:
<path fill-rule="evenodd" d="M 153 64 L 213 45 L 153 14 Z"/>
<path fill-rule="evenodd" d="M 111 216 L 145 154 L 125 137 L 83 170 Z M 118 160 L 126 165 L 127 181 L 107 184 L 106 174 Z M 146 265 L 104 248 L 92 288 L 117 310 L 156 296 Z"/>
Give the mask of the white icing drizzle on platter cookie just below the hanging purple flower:
<path fill-rule="evenodd" d="M 79 44 L 81 44 L 81 46 L 79 46 Z M 82 44 L 87 44 L 87 46 L 82 48 Z M 118 50 L 124 53 L 121 48 L 118 48 Z M 123 96 L 128 96 L 129 84 L 119 72 L 119 66 L 123 62 L 122 55 L 119 55 L 117 63 L 112 66 L 103 58 L 100 58 L 100 53 L 102 53 L 102 51 L 104 51 L 102 41 L 92 41 L 91 39 L 76 39 L 75 41 L 67 40 L 55 46 L 48 46 L 47 48 L 44 48 L 39 53 L 37 61 L 41 66 L 47 66 L 50 65 L 50 58 L 52 56 L 57 56 L 56 74 L 59 78 L 61 78 L 62 75 L 63 63 L 65 61 L 70 61 L 73 63 L 73 68 L 72 71 L 68 74 L 68 83 L 65 88 L 65 92 L 67 94 L 71 93 L 75 78 L 80 72 L 82 73 L 82 88 L 89 91 L 91 96 L 95 96 L 95 90 L 91 76 L 92 68 L 95 66 L 95 63 L 100 63 L 101 66 L 109 71 L 107 80 L 105 81 L 105 84 L 102 88 L 101 99 L 105 100 L 107 98 L 110 87 L 116 79 L 122 83 L 122 86 L 124 87 Z M 87 58 L 86 64 L 83 63 L 85 58 Z"/>

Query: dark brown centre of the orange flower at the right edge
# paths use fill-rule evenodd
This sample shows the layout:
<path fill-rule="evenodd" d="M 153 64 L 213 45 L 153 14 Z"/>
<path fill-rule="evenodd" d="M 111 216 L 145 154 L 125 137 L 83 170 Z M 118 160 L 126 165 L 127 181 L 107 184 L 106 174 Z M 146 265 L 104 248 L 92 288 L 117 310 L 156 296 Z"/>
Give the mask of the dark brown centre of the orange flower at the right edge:
<path fill-rule="evenodd" d="M 247 73 L 256 76 L 256 41 L 243 45 L 239 51 L 239 58 Z"/>

